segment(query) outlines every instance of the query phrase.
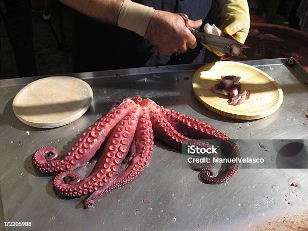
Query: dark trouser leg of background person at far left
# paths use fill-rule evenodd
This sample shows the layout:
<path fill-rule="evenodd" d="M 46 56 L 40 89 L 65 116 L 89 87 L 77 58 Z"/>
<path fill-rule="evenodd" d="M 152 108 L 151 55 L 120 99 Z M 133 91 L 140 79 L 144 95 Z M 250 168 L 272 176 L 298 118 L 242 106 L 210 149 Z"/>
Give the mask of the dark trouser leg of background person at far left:
<path fill-rule="evenodd" d="M 4 0 L 4 4 L 6 11 L 2 12 L 2 17 L 15 53 L 19 77 L 38 75 L 33 49 L 31 2 Z"/>

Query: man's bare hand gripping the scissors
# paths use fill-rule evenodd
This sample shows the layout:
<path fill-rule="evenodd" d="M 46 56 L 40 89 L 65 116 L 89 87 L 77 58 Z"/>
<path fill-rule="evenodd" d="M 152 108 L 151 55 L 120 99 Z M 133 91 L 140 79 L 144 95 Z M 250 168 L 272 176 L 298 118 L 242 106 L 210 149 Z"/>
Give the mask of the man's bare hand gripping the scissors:
<path fill-rule="evenodd" d="M 202 20 L 188 21 L 188 26 L 198 29 Z M 171 56 L 178 51 L 184 53 L 188 47 L 196 48 L 196 37 L 185 26 L 184 18 L 180 15 L 156 10 L 148 24 L 145 36 L 159 53 Z"/>

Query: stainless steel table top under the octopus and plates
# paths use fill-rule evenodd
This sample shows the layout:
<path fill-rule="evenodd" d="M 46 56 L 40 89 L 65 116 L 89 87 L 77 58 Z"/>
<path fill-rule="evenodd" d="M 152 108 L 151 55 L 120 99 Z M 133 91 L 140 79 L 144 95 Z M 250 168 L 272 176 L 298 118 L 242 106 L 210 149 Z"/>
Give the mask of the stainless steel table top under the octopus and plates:
<path fill-rule="evenodd" d="M 114 100 L 135 94 L 199 117 L 234 139 L 307 139 L 307 73 L 297 63 L 287 67 L 284 62 L 244 62 L 270 74 L 284 93 L 277 112 L 254 121 L 219 116 L 196 100 L 191 81 L 200 65 L 70 74 L 93 88 L 92 107 L 71 124 L 45 130 L 23 124 L 12 110 L 18 91 L 39 78 L 1 80 L 0 219 L 31 221 L 31 230 L 235 230 L 307 208 L 306 169 L 240 169 L 226 184 L 206 185 L 200 182 L 198 172 L 182 167 L 180 152 L 159 140 L 149 166 L 135 181 L 101 198 L 90 210 L 83 208 L 84 198 L 57 197 L 52 177 L 38 174 L 31 166 L 32 153 L 37 148 L 52 145 L 63 155 Z M 306 145 L 304 148 L 308 150 Z M 83 176 L 90 173 L 94 162 L 80 171 Z M 289 186 L 293 178 L 299 184 L 295 191 Z"/>

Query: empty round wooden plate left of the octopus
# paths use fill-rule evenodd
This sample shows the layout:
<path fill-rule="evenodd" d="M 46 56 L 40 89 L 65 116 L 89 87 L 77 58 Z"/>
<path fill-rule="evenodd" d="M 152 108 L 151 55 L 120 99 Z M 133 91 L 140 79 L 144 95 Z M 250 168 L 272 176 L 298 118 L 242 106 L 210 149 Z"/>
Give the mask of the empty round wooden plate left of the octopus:
<path fill-rule="evenodd" d="M 24 87 L 13 101 L 18 119 L 32 127 L 53 128 L 80 118 L 91 106 L 89 84 L 69 76 L 53 76 Z"/>

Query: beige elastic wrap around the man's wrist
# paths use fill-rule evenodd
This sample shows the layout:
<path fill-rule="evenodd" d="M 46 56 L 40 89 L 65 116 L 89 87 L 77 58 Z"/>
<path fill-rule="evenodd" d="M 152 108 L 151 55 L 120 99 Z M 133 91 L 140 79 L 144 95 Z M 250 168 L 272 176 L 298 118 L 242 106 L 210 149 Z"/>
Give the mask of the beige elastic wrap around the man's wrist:
<path fill-rule="evenodd" d="M 125 0 L 120 10 L 118 26 L 144 36 L 154 9 Z"/>

